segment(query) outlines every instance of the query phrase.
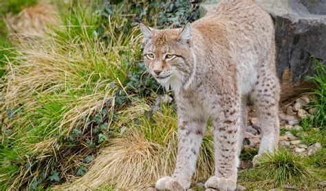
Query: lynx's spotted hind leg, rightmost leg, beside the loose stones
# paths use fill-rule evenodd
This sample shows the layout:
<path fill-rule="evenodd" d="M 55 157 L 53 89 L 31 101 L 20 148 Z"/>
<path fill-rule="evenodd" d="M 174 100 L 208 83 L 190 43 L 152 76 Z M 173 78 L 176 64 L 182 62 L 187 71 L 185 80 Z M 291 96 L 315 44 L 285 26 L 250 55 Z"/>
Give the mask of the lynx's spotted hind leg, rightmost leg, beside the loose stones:
<path fill-rule="evenodd" d="M 269 75 L 262 73 L 262 76 L 257 77 L 258 82 L 251 96 L 262 137 L 254 164 L 257 164 L 257 157 L 261 153 L 277 149 L 279 142 L 279 80 L 272 71 Z"/>

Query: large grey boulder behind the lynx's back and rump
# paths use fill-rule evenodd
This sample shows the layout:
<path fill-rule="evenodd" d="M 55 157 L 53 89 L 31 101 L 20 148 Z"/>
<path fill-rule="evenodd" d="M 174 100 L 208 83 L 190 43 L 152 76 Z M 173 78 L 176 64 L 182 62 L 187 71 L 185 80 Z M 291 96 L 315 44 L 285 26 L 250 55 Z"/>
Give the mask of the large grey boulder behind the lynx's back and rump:
<path fill-rule="evenodd" d="M 201 5 L 201 16 L 221 0 Z M 257 0 L 275 23 L 277 75 L 281 99 L 307 87 L 305 76 L 313 73 L 312 56 L 326 64 L 326 0 Z"/>

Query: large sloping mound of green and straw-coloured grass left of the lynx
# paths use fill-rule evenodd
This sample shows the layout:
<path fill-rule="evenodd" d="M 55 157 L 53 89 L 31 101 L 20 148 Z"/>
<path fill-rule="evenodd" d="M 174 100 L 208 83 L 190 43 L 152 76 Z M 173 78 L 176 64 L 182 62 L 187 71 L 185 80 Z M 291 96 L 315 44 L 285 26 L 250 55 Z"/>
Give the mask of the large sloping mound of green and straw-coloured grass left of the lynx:
<path fill-rule="evenodd" d="M 114 108 L 133 96 L 124 90 L 138 65 L 140 38 L 137 28 L 113 33 L 119 26 L 110 16 L 107 45 L 96 34 L 100 19 L 91 8 L 76 8 L 43 42 L 21 43 L 7 63 L 1 188 L 65 181 L 110 136 Z"/>

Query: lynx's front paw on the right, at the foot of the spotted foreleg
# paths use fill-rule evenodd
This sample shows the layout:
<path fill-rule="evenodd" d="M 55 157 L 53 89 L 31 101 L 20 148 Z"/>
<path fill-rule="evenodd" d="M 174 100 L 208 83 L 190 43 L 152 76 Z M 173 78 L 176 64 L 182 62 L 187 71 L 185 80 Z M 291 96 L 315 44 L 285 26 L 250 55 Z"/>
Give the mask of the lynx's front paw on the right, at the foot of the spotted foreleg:
<path fill-rule="evenodd" d="M 217 190 L 235 190 L 237 188 L 237 183 L 232 179 L 210 177 L 205 183 L 206 188 L 214 188 Z"/>

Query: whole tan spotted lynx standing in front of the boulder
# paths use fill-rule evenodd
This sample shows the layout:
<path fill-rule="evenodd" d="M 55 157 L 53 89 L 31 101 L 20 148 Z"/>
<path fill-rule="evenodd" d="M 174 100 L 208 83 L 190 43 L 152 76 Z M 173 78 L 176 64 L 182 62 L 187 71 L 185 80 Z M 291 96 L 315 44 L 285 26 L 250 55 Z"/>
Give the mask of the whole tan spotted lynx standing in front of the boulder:
<path fill-rule="evenodd" d="M 270 15 L 254 1 L 228 0 L 183 29 L 155 30 L 142 23 L 140 28 L 146 44 L 144 63 L 158 82 L 173 89 L 178 114 L 175 171 L 155 187 L 189 188 L 210 117 L 215 175 L 205 186 L 235 190 L 248 99 L 261 127 L 259 155 L 276 149 L 278 142 L 279 81 Z"/>

